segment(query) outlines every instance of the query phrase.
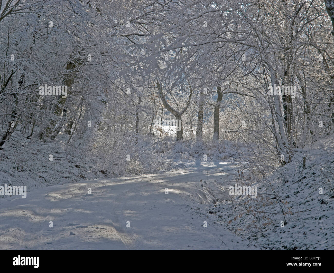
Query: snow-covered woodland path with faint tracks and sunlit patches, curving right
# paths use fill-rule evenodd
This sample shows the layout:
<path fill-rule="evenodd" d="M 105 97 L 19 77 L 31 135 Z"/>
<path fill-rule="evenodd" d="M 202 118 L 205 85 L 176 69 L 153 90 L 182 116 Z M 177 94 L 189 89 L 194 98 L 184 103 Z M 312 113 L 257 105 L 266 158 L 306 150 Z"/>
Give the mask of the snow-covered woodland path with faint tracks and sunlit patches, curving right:
<path fill-rule="evenodd" d="M 212 206 L 210 189 L 233 184 L 235 167 L 199 162 L 180 166 L 2 199 L 0 249 L 254 249 L 230 233 L 224 219 L 217 222 L 205 213 Z M 201 179 L 208 181 L 203 187 Z"/>

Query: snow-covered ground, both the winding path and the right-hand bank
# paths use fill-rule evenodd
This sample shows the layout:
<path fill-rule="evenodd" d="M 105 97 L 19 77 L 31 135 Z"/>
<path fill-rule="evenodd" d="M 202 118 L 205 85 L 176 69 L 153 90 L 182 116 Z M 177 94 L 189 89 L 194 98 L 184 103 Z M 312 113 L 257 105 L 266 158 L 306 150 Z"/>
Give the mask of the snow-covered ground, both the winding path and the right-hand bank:
<path fill-rule="evenodd" d="M 168 171 L 1 198 L 0 249 L 334 249 L 334 135 L 263 183 L 237 159 L 175 155 Z M 235 183 L 257 185 L 257 198 L 230 196 Z"/>

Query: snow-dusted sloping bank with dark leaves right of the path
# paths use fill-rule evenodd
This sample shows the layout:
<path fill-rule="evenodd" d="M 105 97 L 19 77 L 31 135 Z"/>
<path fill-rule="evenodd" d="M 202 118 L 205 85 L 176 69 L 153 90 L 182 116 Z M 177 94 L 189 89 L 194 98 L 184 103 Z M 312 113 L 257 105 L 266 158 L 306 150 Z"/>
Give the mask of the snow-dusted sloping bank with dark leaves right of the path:
<path fill-rule="evenodd" d="M 302 164 L 304 156 L 305 168 Z M 229 230 L 265 249 L 333 250 L 333 163 L 334 135 L 330 135 L 304 147 L 295 154 L 292 162 L 268 176 L 277 199 L 281 200 L 284 217 L 268 185 L 258 187 L 258 194 L 272 194 L 268 195 L 269 202 L 258 198 L 258 210 L 262 212 L 258 218 L 254 217 L 257 214 L 245 211 L 243 204 L 247 199 L 240 201 L 239 197 L 212 205 L 209 213 L 227 219 Z M 259 222 L 262 222 L 261 230 Z M 270 224 L 266 226 L 265 222 Z"/>

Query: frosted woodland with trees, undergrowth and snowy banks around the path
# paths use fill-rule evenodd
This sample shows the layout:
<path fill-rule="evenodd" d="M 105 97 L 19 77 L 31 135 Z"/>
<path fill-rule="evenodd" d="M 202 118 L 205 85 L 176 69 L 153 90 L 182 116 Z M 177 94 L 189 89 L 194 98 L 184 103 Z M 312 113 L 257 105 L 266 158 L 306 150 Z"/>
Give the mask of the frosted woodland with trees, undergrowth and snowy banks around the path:
<path fill-rule="evenodd" d="M 334 0 L 0 0 L 0 52 L 0 207 L 170 174 L 245 248 L 334 249 Z"/>

